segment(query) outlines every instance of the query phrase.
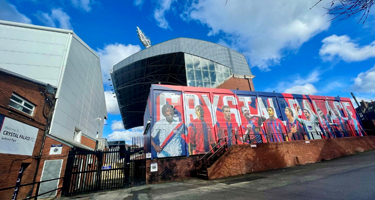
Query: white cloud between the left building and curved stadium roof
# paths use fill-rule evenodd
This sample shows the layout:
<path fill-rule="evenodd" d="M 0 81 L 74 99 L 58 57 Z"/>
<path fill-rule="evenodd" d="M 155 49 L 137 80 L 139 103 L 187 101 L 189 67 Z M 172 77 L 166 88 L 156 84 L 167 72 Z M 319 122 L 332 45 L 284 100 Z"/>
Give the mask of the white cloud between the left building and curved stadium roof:
<path fill-rule="evenodd" d="M 109 84 L 108 79 L 111 78 L 109 71 L 115 64 L 128 56 L 141 50 L 139 45 L 109 44 L 104 49 L 98 49 L 97 53 L 100 57 L 100 65 L 102 68 L 103 82 Z"/>

